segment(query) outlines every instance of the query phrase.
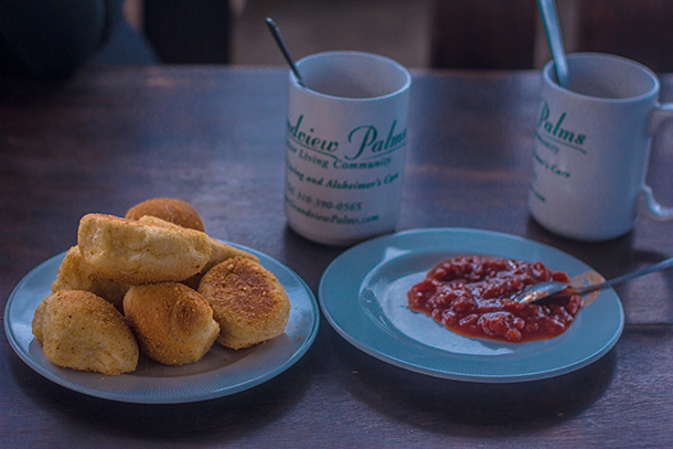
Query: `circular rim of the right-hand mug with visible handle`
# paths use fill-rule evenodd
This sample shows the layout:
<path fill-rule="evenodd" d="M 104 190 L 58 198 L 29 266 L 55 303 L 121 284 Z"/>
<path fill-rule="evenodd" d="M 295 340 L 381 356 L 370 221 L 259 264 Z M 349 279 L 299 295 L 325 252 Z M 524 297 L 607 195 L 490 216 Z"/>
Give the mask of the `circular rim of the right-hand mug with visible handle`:
<path fill-rule="evenodd" d="M 623 98 L 606 98 L 606 97 L 585 95 L 585 94 L 579 94 L 575 90 L 570 90 L 566 87 L 563 87 L 560 84 L 558 84 L 557 81 L 552 78 L 552 71 L 554 68 L 554 60 L 551 60 L 542 68 L 543 79 L 549 87 L 552 87 L 555 90 L 559 90 L 566 95 L 574 96 L 574 97 L 581 98 L 581 99 L 599 101 L 599 103 L 635 103 L 635 101 L 639 101 L 639 100 L 642 100 L 645 98 L 650 98 L 651 96 L 656 95 L 656 93 L 660 90 L 660 82 L 659 82 L 659 77 L 656 76 L 656 74 L 650 67 L 648 67 L 637 61 L 629 60 L 628 57 L 613 55 L 613 54 L 609 54 L 609 53 L 591 53 L 591 52 L 570 53 L 566 57 L 567 57 L 567 60 L 612 60 L 612 61 L 619 62 L 620 64 L 635 67 L 635 68 L 640 70 L 642 73 L 644 73 L 645 75 L 648 75 L 650 77 L 650 79 L 652 79 L 652 88 L 641 95 L 634 95 L 634 96 L 629 96 L 629 97 L 623 97 Z"/>

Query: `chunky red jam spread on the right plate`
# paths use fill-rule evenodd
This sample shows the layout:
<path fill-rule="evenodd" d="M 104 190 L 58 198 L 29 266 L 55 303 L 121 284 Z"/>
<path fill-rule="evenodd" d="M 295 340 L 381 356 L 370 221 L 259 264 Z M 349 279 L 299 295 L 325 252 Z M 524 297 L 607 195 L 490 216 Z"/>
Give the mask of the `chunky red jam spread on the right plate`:
<path fill-rule="evenodd" d="M 467 336 L 508 342 L 551 339 L 573 323 L 581 297 L 564 290 L 536 303 L 514 300 L 526 286 L 546 280 L 569 278 L 541 261 L 460 256 L 430 269 L 407 293 L 408 304 Z"/>

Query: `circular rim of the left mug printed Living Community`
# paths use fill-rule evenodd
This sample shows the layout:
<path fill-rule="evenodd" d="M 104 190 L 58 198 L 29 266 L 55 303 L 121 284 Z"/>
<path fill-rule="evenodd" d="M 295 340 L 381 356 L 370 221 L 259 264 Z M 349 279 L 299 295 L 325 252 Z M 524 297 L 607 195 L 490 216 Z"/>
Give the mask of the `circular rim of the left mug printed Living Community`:
<path fill-rule="evenodd" d="M 289 77 L 290 77 L 290 83 L 291 83 L 292 87 L 297 88 L 297 89 L 303 89 L 312 95 L 323 97 L 323 98 L 335 99 L 335 100 L 340 100 L 340 101 L 366 103 L 366 101 L 378 101 L 382 99 L 398 96 L 399 94 L 404 93 L 405 90 L 408 90 L 412 85 L 412 74 L 409 73 L 407 67 L 405 67 L 404 65 L 399 64 L 397 61 L 395 61 L 391 57 L 383 56 L 383 55 L 380 55 L 376 53 L 357 52 L 357 51 L 319 52 L 319 53 L 313 53 L 308 56 L 301 57 L 300 60 L 297 61 L 296 65 L 298 68 L 300 68 L 301 64 L 305 64 L 306 62 L 314 61 L 314 60 L 322 58 L 322 57 L 334 57 L 334 56 L 351 56 L 351 57 L 363 57 L 363 58 L 367 58 L 367 60 L 377 60 L 378 62 L 393 66 L 398 72 L 400 72 L 404 76 L 404 84 L 402 85 L 402 87 L 399 87 L 388 94 L 385 94 L 385 95 L 351 98 L 351 97 L 343 97 L 343 96 L 338 96 L 338 95 L 323 94 L 319 90 L 314 90 L 310 87 L 303 86 L 303 85 L 299 84 L 299 81 L 297 79 L 297 76 L 295 76 L 292 71 L 289 71 Z"/>

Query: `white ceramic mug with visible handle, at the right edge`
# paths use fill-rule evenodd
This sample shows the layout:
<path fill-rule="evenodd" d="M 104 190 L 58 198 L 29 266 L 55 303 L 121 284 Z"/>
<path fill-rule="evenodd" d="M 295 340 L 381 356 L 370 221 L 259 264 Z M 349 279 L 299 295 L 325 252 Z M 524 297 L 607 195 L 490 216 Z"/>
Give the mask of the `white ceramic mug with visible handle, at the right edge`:
<path fill-rule="evenodd" d="M 569 87 L 554 63 L 542 71 L 528 206 L 545 228 L 565 237 L 606 240 L 628 233 L 640 214 L 673 220 L 645 185 L 652 133 L 673 117 L 658 101 L 648 67 L 598 53 L 568 55 Z"/>

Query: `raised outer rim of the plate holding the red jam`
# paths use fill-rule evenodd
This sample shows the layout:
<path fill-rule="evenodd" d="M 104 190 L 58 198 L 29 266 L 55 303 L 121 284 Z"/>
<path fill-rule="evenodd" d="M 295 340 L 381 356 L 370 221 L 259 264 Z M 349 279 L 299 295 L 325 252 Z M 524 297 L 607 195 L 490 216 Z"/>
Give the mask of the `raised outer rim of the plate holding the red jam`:
<path fill-rule="evenodd" d="M 619 296 L 617 296 L 617 293 L 615 292 L 615 290 L 612 288 L 607 288 L 606 291 L 609 291 L 615 296 L 616 306 L 617 306 L 617 309 L 619 312 L 619 322 L 617 324 L 617 328 L 613 330 L 612 335 L 606 341 L 606 343 L 598 351 L 596 351 L 585 357 L 578 359 L 574 363 L 566 364 L 560 367 L 549 368 L 549 370 L 545 370 L 545 371 L 535 371 L 535 372 L 531 372 L 528 374 L 466 375 L 466 374 L 448 372 L 446 370 L 439 370 L 439 368 L 429 367 L 429 366 L 419 366 L 417 364 L 414 364 L 413 362 L 409 362 L 408 360 L 403 360 L 400 357 L 393 356 L 389 353 L 386 353 L 385 351 L 382 351 L 380 349 L 370 348 L 367 344 L 364 344 L 361 341 L 359 341 L 359 339 L 356 336 L 351 335 L 351 333 L 346 329 L 343 329 L 343 327 L 339 322 L 336 322 L 336 320 L 330 312 L 329 306 L 328 306 L 328 303 L 325 303 L 325 293 L 324 293 L 324 285 L 327 284 L 327 279 L 331 276 L 331 271 L 335 269 L 335 267 L 341 263 L 341 260 L 343 260 L 344 258 L 349 257 L 352 254 L 357 254 L 360 252 L 364 252 L 364 250 L 371 249 L 373 247 L 377 248 L 378 246 L 382 246 L 382 248 L 383 248 L 383 247 L 385 247 L 386 242 L 393 243 L 395 240 L 405 239 L 405 238 L 408 238 L 408 236 L 414 236 L 414 235 L 419 235 L 419 234 L 435 234 L 435 235 L 469 234 L 469 235 L 473 235 L 473 236 L 478 235 L 478 236 L 489 236 L 491 238 L 498 238 L 498 239 L 506 239 L 506 240 L 511 240 L 511 242 L 514 242 L 514 243 L 517 243 L 521 245 L 532 245 L 533 247 L 543 248 L 544 250 L 547 250 L 547 252 L 557 253 L 557 254 L 562 255 L 563 257 L 570 258 L 580 265 L 585 265 L 585 266 L 589 267 L 586 263 L 578 259 L 577 257 L 575 257 L 562 249 L 558 249 L 554 246 L 551 246 L 548 244 L 533 240 L 530 238 L 525 238 L 525 237 L 514 235 L 514 234 L 508 234 L 508 233 L 503 233 L 503 232 L 489 231 L 489 229 L 466 228 L 466 227 L 413 228 L 413 229 L 406 229 L 406 231 L 400 231 L 400 232 L 396 232 L 396 233 L 392 233 L 392 234 L 382 235 L 382 236 L 365 240 L 363 243 L 360 243 L 360 244 L 346 249 L 341 255 L 339 255 L 334 260 L 332 260 L 332 263 L 325 268 L 325 270 L 320 279 L 319 286 L 318 286 L 318 302 L 320 304 L 320 309 L 321 309 L 324 318 L 327 319 L 327 321 L 344 340 L 346 340 L 350 344 L 354 345 L 355 348 L 363 351 L 364 353 L 366 353 L 375 359 L 378 359 L 385 363 L 392 364 L 394 366 L 397 366 L 397 367 L 400 367 L 400 368 L 404 368 L 407 371 L 412 371 L 415 373 L 419 373 L 423 375 L 432 376 L 432 377 L 440 377 L 440 378 L 446 378 L 446 379 L 451 379 L 451 381 L 473 382 L 473 383 L 505 384 L 505 383 L 538 381 L 538 379 L 559 376 L 559 375 L 567 374 L 573 371 L 579 370 L 579 368 L 585 367 L 585 366 L 596 362 L 597 360 L 601 359 L 619 341 L 619 339 L 623 332 L 623 329 L 624 329 L 624 321 L 626 321 L 624 320 L 624 310 L 623 310 L 623 306 L 621 303 Z M 447 249 L 447 252 L 450 252 L 450 248 Z M 382 265 L 381 261 L 374 263 L 373 267 L 367 272 L 357 275 L 357 279 L 360 279 L 361 281 L 364 281 L 367 278 L 367 276 L 380 265 Z M 360 291 L 361 288 L 362 288 L 362 282 L 359 285 L 357 290 Z M 415 341 L 412 338 L 409 338 L 409 339 L 414 342 L 414 344 L 418 344 L 419 346 L 428 348 L 431 351 L 439 351 L 439 352 L 445 352 L 445 353 L 447 352 L 441 349 L 427 346 L 427 345 L 425 345 L 425 343 Z M 399 339 L 396 339 L 396 340 L 397 340 L 397 343 L 404 344 L 404 342 L 400 342 Z M 468 355 L 467 357 L 470 357 L 470 356 Z"/>

